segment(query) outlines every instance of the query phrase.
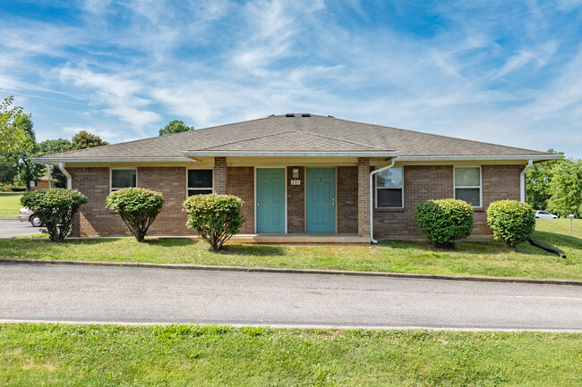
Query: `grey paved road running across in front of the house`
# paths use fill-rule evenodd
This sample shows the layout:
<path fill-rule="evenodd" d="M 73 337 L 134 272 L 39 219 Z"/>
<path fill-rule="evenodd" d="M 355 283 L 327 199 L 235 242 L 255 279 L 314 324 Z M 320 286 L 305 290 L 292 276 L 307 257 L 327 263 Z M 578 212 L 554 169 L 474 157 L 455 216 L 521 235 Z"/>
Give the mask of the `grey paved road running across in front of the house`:
<path fill-rule="evenodd" d="M 582 331 L 582 287 L 0 265 L 0 319 Z"/>

